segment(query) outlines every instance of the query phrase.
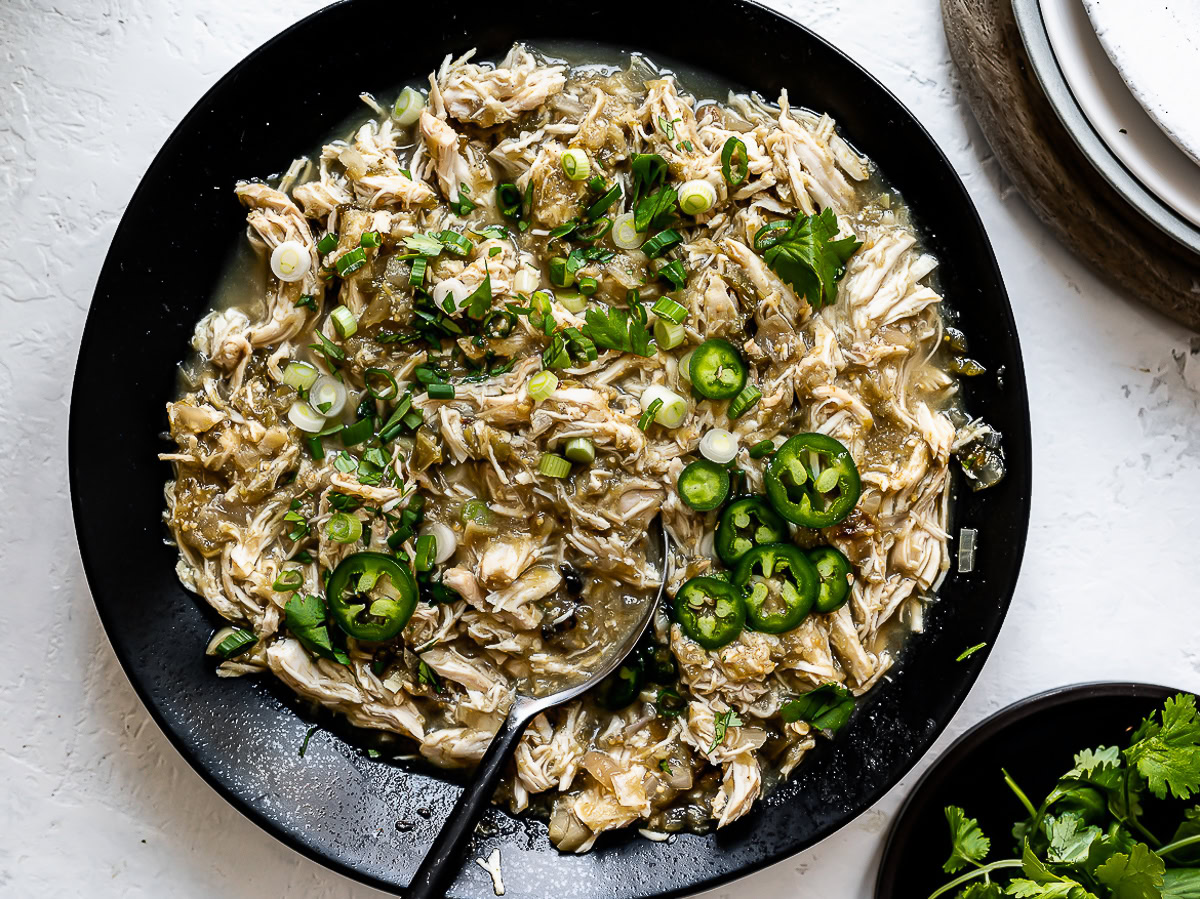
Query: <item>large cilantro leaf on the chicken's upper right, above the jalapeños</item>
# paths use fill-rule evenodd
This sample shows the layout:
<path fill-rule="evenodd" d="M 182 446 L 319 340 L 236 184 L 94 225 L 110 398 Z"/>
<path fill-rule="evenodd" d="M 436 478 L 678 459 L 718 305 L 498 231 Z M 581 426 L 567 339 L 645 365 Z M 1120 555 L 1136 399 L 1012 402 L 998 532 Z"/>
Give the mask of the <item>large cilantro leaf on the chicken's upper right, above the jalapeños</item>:
<path fill-rule="evenodd" d="M 779 232 L 786 232 L 779 234 Z M 830 306 L 838 299 L 838 282 L 846 272 L 846 260 L 863 244 L 840 238 L 832 209 L 820 215 L 797 215 L 791 226 L 775 222 L 755 235 L 755 250 L 776 275 L 808 300 L 812 308 Z"/>

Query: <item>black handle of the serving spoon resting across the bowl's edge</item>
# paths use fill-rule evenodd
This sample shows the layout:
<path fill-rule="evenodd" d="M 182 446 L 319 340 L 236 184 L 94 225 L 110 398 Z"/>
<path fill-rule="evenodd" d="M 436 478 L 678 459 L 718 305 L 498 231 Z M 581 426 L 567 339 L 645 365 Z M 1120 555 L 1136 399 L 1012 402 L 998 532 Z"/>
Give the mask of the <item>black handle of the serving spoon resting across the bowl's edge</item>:
<path fill-rule="evenodd" d="M 442 899 L 445 895 L 455 875 L 462 869 L 462 853 L 475 832 L 475 823 L 491 802 L 496 785 L 500 783 L 504 768 L 516 751 L 529 719 L 529 711 L 520 700 L 509 709 L 470 783 L 462 791 L 450 817 L 442 825 L 433 845 L 425 853 L 425 861 L 413 875 L 404 893 L 408 899 Z"/>

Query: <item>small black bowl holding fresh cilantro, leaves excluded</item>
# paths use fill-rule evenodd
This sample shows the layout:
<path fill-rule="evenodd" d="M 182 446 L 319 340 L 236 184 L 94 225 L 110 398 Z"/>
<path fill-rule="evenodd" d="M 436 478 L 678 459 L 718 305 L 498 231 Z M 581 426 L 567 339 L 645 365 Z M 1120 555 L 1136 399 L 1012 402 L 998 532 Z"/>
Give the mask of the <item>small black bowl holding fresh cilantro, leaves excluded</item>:
<path fill-rule="evenodd" d="M 875 899 L 928 897 L 950 879 L 944 808 L 958 805 L 991 838 L 991 857 L 1010 849 L 1022 809 L 1004 784 L 1004 768 L 1037 803 L 1069 771 L 1075 753 L 1124 747 L 1129 731 L 1176 693 L 1156 684 L 1090 683 L 1058 687 L 1014 702 L 959 737 L 908 793 L 892 825 Z"/>

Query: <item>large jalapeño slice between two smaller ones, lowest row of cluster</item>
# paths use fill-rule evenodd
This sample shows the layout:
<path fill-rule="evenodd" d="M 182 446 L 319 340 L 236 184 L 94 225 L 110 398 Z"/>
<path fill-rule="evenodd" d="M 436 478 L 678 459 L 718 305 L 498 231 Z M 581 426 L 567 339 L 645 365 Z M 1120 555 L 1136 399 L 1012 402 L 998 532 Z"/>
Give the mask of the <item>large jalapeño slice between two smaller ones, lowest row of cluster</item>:
<path fill-rule="evenodd" d="M 808 617 L 821 577 L 796 546 L 767 544 L 742 557 L 733 583 L 745 591 L 746 623 L 763 634 L 782 634 Z"/>

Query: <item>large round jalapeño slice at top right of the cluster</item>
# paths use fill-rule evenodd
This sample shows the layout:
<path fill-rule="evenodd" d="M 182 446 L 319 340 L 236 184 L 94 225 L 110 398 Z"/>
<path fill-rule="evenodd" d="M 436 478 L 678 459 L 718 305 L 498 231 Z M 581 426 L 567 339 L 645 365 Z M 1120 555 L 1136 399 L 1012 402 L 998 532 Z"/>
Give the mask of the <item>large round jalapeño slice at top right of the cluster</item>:
<path fill-rule="evenodd" d="M 775 511 L 806 528 L 836 525 L 862 491 L 850 450 L 821 433 L 790 437 L 772 456 L 764 480 Z"/>

